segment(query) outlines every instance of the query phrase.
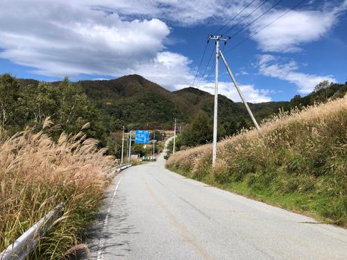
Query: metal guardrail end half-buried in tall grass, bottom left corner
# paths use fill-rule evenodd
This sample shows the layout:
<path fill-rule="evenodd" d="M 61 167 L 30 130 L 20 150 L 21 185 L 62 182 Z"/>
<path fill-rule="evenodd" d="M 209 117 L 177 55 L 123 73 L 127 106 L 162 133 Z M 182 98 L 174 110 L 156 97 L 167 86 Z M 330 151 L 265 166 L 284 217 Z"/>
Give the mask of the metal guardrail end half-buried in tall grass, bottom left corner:
<path fill-rule="evenodd" d="M 41 218 L 33 227 L 29 228 L 19 236 L 15 242 L 6 248 L 0 254 L 0 260 L 24 260 L 27 259 L 28 254 L 33 252 L 40 237 L 44 236 L 51 228 L 51 225 L 58 219 L 63 211 L 63 203 L 49 211 L 43 218 Z"/>

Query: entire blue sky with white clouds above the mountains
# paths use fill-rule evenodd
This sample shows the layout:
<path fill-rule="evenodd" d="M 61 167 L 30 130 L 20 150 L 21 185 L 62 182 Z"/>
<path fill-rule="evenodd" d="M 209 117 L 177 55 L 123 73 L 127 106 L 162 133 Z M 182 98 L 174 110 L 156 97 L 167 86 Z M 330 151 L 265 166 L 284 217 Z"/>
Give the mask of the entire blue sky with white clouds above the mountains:
<path fill-rule="evenodd" d="M 0 73 L 46 81 L 136 73 L 170 91 L 214 93 L 207 40 L 217 33 L 231 37 L 221 50 L 247 101 L 289 101 L 321 80 L 347 80 L 347 0 L 291 10 L 299 2 L 1 0 Z M 219 94 L 240 101 L 221 59 Z"/>

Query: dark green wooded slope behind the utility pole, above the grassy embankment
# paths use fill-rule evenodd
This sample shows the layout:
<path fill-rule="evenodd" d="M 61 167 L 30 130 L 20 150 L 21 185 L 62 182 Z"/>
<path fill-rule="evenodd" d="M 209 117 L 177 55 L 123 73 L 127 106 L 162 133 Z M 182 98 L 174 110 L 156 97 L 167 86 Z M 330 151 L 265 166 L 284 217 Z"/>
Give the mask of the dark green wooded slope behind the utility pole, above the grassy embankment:
<path fill-rule="evenodd" d="M 192 87 L 181 89 L 175 93 L 199 107 L 198 114 L 194 116 L 189 124 L 183 127 L 182 135 L 178 136 L 176 150 L 210 143 L 212 141 L 213 96 Z M 324 80 L 316 85 L 314 91 L 307 96 L 296 95 L 291 101 L 250 103 L 249 105 L 255 118 L 260 122 L 263 119 L 270 118 L 273 114 L 278 114 L 280 111 L 289 112 L 293 108 L 301 110 L 307 105 L 325 103 L 330 99 L 341 98 L 346 93 L 346 83 L 333 84 Z M 219 140 L 234 135 L 242 128 L 253 127 L 250 116 L 244 110 L 244 104 L 233 103 L 225 96 L 219 96 L 218 113 Z"/>

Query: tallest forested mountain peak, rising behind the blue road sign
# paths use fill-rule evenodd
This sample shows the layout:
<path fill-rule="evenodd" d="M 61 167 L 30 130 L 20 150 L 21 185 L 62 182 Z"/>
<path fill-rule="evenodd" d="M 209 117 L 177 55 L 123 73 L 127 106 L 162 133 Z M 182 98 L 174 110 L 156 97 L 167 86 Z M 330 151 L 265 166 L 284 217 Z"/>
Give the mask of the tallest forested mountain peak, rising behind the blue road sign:
<path fill-rule="evenodd" d="M 189 105 L 167 89 L 142 76 L 129 75 L 115 80 L 83 80 L 87 96 L 120 125 L 160 127 L 172 125 L 175 117 L 189 121 Z"/>

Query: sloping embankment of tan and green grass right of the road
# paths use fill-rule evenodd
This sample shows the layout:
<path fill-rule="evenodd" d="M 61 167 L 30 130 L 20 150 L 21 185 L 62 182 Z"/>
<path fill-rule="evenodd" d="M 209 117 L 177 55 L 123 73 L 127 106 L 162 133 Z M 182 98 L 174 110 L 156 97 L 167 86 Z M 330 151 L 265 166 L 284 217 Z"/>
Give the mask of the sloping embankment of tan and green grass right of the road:
<path fill-rule="evenodd" d="M 218 145 L 171 156 L 167 167 L 196 180 L 347 226 L 347 96 L 262 123 Z"/>

